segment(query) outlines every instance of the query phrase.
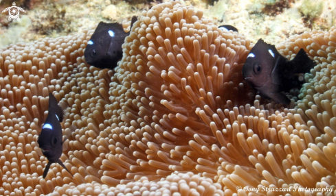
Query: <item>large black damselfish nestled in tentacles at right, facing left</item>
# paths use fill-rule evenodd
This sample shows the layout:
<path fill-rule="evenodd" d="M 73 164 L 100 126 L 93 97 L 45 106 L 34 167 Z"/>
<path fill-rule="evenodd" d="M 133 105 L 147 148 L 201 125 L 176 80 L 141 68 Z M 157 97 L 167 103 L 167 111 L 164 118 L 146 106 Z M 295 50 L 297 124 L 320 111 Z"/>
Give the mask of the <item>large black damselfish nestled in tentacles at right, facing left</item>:
<path fill-rule="evenodd" d="M 300 88 L 304 83 L 304 73 L 310 72 L 314 66 L 315 62 L 304 49 L 289 61 L 274 45 L 259 39 L 243 65 L 243 77 L 263 97 L 289 105 L 291 100 L 280 92 L 288 93 L 292 88 Z"/>

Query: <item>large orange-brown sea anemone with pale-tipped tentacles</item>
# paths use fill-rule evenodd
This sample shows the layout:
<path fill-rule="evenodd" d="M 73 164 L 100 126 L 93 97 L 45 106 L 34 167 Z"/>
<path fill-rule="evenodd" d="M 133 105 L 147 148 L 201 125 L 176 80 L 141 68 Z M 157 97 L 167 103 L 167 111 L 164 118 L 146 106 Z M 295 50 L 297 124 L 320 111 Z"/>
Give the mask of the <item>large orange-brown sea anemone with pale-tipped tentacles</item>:
<path fill-rule="evenodd" d="M 287 109 L 241 77 L 251 42 L 202 16 L 179 1 L 142 12 L 115 72 L 85 64 L 93 29 L 0 51 L 0 195 L 335 190 L 336 27 L 277 46 L 288 59 L 302 47 L 318 62 Z M 58 164 L 41 177 L 47 160 L 35 149 L 49 92 L 71 108 L 63 132 L 77 127 L 60 158 L 74 178 Z"/>

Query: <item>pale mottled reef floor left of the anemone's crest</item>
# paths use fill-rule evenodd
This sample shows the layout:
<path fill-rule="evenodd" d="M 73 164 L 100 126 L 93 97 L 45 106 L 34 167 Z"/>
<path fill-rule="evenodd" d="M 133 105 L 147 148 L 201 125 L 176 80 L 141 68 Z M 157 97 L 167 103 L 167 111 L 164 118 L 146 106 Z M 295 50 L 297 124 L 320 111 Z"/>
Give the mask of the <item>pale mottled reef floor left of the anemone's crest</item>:
<path fill-rule="evenodd" d="M 27 11 L 22 16 L 28 16 L 32 23 L 27 23 L 27 33 L 24 35 L 12 34 L 11 26 L 8 26 L 8 14 L 0 13 L 0 38 L 7 38 L 5 42 L 0 42 L 0 48 L 8 47 L 18 40 L 32 42 L 38 38 L 46 36 L 56 38 L 66 36 L 70 33 L 81 32 L 83 29 L 95 27 L 100 21 L 104 22 L 122 22 L 133 15 L 140 15 L 142 10 L 148 10 L 150 3 L 128 4 L 124 1 L 105 1 L 105 0 L 31 0 L 25 1 L 29 6 L 22 5 Z M 116 3 L 115 5 L 113 3 Z M 155 4 L 154 2 L 151 2 Z M 24 4 L 24 3 L 23 3 Z M 12 5 L 4 2 L 0 4 L 0 11 Z M 106 14 L 104 10 L 107 7 L 117 6 L 117 15 Z M 32 8 L 28 10 L 27 7 Z M 107 12 L 106 11 L 106 12 Z M 115 11 L 115 10 L 114 10 Z M 21 14 L 20 14 L 21 16 Z M 11 25 L 16 25 L 15 23 Z M 3 34 L 3 35 L 2 35 Z"/>

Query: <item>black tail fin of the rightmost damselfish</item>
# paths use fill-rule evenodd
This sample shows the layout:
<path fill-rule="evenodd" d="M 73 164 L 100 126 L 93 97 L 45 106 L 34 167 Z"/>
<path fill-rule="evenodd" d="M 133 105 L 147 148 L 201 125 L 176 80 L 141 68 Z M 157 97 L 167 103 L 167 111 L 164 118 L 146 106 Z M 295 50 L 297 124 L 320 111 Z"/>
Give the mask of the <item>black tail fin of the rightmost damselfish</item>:
<path fill-rule="evenodd" d="M 304 49 L 300 49 L 300 51 L 296 54 L 295 58 L 291 60 L 293 67 L 298 67 L 300 69 L 295 70 L 295 73 L 307 73 L 310 72 L 311 69 L 316 65 L 314 60 L 311 60 Z M 302 64 L 301 66 L 295 66 L 297 64 Z"/>

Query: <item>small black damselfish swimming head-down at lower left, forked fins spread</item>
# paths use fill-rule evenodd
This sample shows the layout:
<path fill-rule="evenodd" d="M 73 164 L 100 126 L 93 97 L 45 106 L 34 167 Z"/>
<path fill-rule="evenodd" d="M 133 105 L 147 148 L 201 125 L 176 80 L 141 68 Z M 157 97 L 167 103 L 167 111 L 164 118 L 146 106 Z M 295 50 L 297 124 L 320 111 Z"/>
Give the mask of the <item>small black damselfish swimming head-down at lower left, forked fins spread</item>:
<path fill-rule="evenodd" d="M 42 154 L 48 159 L 47 166 L 45 167 L 45 171 L 43 171 L 43 178 L 47 176 L 49 167 L 52 163 L 57 162 L 64 169 L 69 171 L 62 161 L 60 161 L 60 156 L 63 151 L 63 140 L 62 135 L 62 127 L 60 127 L 60 122 L 63 121 L 65 109 L 67 106 L 65 104 L 57 103 L 57 99 L 49 93 L 49 108 L 48 108 L 48 116 L 45 120 L 45 123 L 42 127 L 41 134 L 38 136 L 38 146 L 40 147 Z M 71 173 L 69 171 L 69 173 Z M 71 174 L 72 175 L 72 174 Z"/>

